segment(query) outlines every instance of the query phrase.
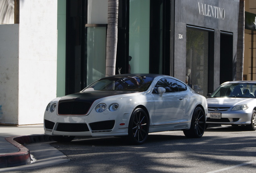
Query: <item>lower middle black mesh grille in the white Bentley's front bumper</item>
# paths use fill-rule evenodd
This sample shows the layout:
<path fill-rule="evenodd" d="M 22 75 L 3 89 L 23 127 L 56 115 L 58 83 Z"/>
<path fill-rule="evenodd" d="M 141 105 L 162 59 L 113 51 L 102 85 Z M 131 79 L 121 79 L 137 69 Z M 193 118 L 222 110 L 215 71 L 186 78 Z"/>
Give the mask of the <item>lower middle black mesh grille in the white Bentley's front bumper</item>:
<path fill-rule="evenodd" d="M 87 124 L 80 123 L 59 123 L 56 131 L 84 132 L 89 131 Z"/>

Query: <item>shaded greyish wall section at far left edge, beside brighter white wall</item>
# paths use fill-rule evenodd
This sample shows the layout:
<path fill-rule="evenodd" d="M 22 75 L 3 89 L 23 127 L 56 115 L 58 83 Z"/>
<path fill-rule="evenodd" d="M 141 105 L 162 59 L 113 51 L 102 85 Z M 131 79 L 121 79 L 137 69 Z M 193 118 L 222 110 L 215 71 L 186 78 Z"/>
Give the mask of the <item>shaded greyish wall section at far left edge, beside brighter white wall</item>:
<path fill-rule="evenodd" d="M 0 123 L 18 124 L 19 24 L 0 24 Z"/>

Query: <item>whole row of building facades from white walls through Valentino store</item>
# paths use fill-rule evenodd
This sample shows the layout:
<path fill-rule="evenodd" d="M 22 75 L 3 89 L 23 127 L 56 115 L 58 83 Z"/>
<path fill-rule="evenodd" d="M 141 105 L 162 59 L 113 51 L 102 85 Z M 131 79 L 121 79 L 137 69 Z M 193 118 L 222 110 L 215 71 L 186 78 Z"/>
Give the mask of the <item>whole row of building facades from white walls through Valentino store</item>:
<path fill-rule="evenodd" d="M 51 99 L 105 76 L 107 0 L 1 2 L 0 124 L 41 124 Z M 116 74 L 167 74 L 206 96 L 235 80 L 238 10 L 239 0 L 119 0 Z"/>

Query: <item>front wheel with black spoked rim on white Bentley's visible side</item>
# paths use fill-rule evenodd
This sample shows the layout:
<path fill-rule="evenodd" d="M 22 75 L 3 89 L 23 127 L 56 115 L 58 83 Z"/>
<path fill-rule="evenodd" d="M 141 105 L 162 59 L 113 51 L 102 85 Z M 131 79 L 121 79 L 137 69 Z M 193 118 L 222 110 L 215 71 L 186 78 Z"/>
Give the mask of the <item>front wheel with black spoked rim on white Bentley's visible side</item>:
<path fill-rule="evenodd" d="M 149 118 L 147 113 L 137 108 L 133 111 L 128 126 L 128 142 L 131 144 L 142 144 L 149 135 Z"/>

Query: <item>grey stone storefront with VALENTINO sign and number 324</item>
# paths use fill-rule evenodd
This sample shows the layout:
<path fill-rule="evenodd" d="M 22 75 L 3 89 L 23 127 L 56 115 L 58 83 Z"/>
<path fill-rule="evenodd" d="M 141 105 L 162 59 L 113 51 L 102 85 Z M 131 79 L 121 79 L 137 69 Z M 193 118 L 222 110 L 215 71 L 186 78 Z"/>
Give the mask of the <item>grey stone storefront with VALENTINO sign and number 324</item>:
<path fill-rule="evenodd" d="M 191 71 L 188 82 L 204 96 L 235 80 L 238 10 L 239 1 L 233 0 L 175 1 L 173 76 L 182 80 Z"/>

